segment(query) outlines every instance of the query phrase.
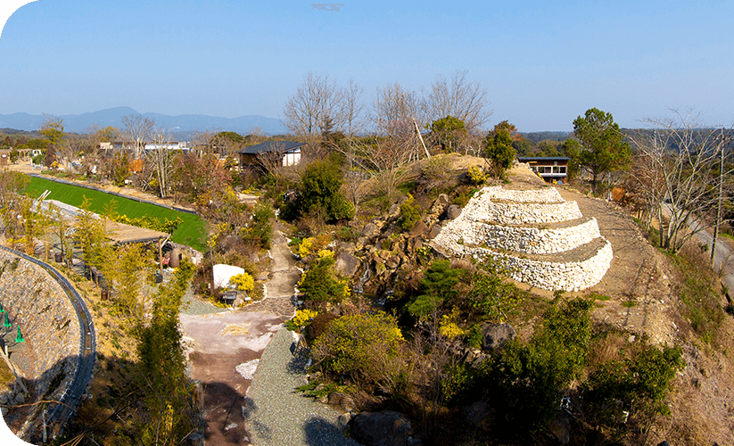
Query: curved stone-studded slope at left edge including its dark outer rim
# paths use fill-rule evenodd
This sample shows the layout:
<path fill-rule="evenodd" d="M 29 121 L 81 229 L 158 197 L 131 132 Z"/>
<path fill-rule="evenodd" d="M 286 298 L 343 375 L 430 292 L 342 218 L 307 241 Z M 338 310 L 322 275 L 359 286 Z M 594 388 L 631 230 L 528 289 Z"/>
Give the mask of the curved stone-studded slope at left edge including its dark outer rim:
<path fill-rule="evenodd" d="M 70 282 L 47 263 L 0 246 L 0 268 L 2 265 L 3 308 L 13 326 L 21 324 L 23 337 L 32 344 L 36 357 L 19 371 L 36 381 L 37 398 L 61 402 L 51 404 L 46 417 L 51 433 L 59 434 L 92 377 L 96 351 L 92 317 Z M 58 385 L 50 389 L 54 380 Z M 29 419 L 18 436 L 39 437 L 39 418 Z"/>

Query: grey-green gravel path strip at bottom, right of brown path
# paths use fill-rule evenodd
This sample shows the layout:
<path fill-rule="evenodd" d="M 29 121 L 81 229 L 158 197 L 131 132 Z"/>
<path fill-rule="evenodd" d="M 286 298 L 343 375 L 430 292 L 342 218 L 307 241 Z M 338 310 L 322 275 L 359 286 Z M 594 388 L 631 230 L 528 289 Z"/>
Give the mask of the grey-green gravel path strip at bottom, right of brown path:
<path fill-rule="evenodd" d="M 283 328 L 268 343 L 248 390 L 247 430 L 256 446 L 359 446 L 344 437 L 339 413 L 302 396 L 307 383 L 302 365 L 293 358 L 293 334 Z"/>

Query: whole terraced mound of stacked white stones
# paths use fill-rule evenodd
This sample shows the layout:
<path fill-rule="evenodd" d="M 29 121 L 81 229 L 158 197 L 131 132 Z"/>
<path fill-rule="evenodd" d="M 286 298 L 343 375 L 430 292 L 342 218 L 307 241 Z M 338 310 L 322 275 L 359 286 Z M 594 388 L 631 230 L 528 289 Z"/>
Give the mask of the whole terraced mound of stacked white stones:
<path fill-rule="evenodd" d="M 433 242 L 457 256 L 497 260 L 515 280 L 552 291 L 596 285 L 613 257 L 597 220 L 551 186 L 484 187 Z"/>

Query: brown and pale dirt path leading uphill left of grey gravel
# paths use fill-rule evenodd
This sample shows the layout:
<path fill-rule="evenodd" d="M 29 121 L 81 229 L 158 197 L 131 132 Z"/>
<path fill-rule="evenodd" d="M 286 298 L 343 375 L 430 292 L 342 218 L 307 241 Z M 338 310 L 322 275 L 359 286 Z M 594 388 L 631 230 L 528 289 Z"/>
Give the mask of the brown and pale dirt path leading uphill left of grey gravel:
<path fill-rule="evenodd" d="M 191 376 L 202 381 L 206 444 L 251 444 L 244 425 L 245 392 L 265 347 L 293 317 L 293 287 L 301 277 L 285 236 L 273 236 L 272 278 L 267 296 L 241 310 L 207 315 L 181 314 L 189 346 Z"/>

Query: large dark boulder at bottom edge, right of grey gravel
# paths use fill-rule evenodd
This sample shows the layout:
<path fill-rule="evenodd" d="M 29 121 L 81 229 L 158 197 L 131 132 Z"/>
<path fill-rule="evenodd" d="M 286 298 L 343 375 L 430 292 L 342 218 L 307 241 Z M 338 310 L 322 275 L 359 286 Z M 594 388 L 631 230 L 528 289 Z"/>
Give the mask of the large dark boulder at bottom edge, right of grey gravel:
<path fill-rule="evenodd" d="M 410 421 L 400 412 L 362 412 L 351 421 L 351 438 L 364 446 L 407 446 Z"/>

